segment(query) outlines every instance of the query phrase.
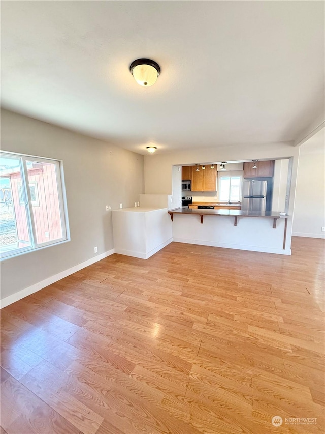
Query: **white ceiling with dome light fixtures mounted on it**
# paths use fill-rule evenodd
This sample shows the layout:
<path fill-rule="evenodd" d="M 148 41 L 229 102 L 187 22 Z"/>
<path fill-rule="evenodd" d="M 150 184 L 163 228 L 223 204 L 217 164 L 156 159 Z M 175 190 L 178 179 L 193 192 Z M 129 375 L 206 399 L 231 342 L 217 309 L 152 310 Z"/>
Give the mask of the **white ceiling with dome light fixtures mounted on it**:
<path fill-rule="evenodd" d="M 146 153 L 295 140 L 324 110 L 324 2 L 5 1 L 2 105 Z M 129 73 L 159 63 L 150 88 Z"/>

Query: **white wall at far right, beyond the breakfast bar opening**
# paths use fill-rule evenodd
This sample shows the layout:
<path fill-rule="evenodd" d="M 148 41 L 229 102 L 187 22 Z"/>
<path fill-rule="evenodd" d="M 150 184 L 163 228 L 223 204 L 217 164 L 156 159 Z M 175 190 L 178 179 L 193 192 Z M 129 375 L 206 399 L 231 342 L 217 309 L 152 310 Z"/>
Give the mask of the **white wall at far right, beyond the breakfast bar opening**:
<path fill-rule="evenodd" d="M 325 238 L 325 129 L 300 149 L 293 235 Z"/>

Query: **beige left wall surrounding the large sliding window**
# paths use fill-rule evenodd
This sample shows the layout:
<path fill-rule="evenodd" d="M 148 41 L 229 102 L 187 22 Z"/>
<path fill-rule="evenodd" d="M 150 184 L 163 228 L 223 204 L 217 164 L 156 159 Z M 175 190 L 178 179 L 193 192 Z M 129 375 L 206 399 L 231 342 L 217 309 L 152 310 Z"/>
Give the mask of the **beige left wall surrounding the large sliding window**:
<path fill-rule="evenodd" d="M 1 298 L 113 249 L 112 209 L 144 190 L 143 156 L 51 124 L 1 111 L 2 150 L 63 160 L 71 241 L 1 262 Z"/>

